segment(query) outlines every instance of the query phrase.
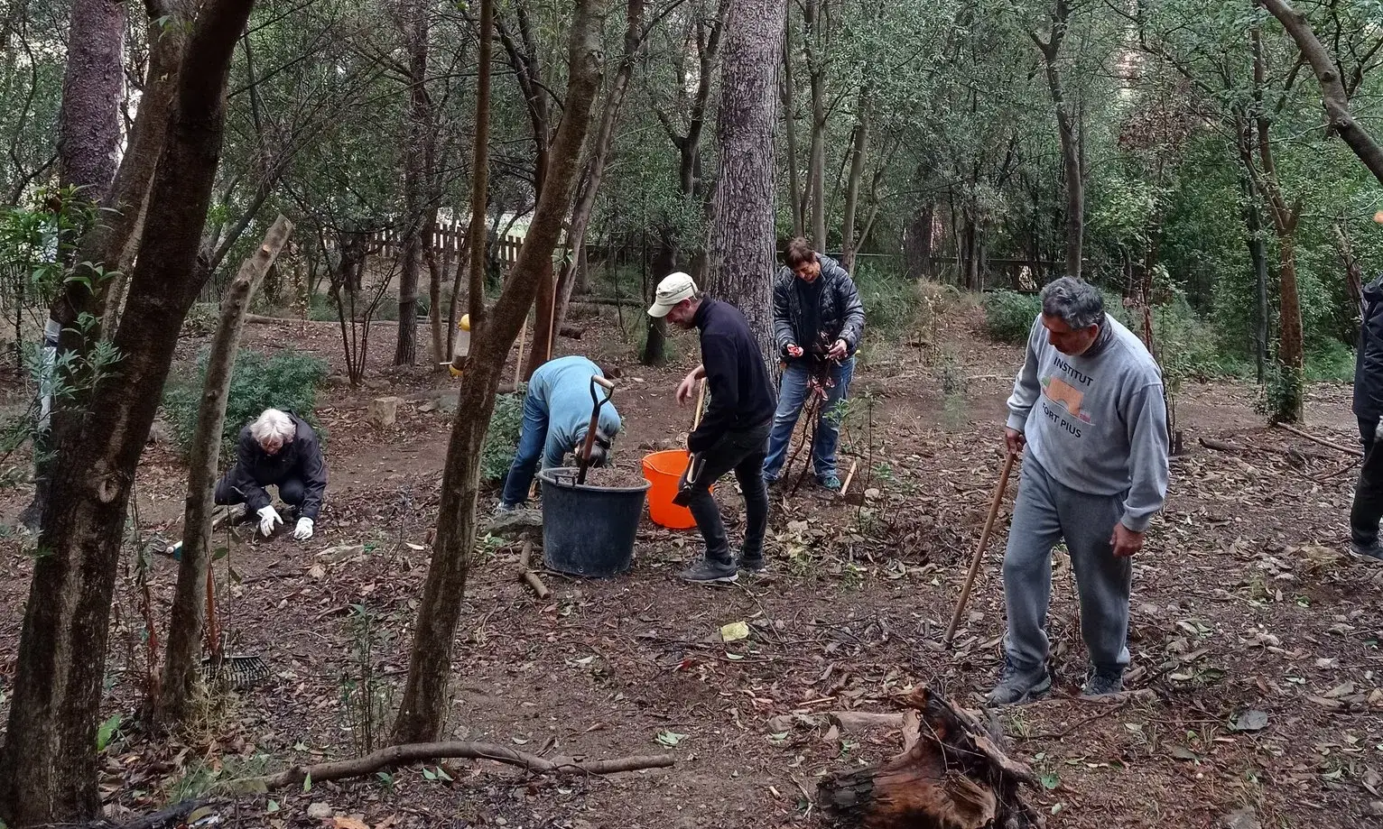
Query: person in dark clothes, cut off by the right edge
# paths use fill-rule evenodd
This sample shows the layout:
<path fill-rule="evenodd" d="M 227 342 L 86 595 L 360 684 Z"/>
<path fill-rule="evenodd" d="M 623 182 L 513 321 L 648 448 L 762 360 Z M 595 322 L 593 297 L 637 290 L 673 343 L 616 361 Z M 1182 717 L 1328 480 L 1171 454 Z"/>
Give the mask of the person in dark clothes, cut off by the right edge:
<path fill-rule="evenodd" d="M 1364 466 L 1350 510 L 1350 550 L 1383 560 L 1379 518 L 1383 518 L 1383 275 L 1364 286 L 1364 323 L 1354 362 L 1354 416 L 1359 421 Z"/>

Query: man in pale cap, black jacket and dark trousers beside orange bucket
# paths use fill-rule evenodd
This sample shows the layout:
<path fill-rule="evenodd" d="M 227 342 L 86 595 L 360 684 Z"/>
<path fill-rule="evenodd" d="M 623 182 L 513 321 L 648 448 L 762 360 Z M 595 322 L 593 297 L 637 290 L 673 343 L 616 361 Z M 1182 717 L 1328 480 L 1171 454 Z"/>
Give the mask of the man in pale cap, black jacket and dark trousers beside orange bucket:
<path fill-rule="evenodd" d="M 701 329 L 701 365 L 678 384 L 678 402 L 687 403 L 703 377 L 711 395 L 701 424 L 687 435 L 692 463 L 678 497 L 692 508 L 705 555 L 682 578 L 704 584 L 734 582 L 741 568 L 758 572 L 765 565 L 769 493 L 763 485 L 763 446 L 774 408 L 768 366 L 744 314 L 729 303 L 703 298 L 686 274 L 672 274 L 658 285 L 649 315 L 667 316 L 682 329 Z M 744 493 L 739 562 L 730 555 L 721 508 L 711 495 L 711 486 L 732 470 Z"/>

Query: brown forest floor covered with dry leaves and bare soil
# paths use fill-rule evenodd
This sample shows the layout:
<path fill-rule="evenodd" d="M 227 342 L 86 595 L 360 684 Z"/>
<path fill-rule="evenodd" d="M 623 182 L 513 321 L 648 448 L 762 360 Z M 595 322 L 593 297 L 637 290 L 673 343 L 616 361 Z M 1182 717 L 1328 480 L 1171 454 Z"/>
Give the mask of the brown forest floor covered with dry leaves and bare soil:
<path fill-rule="evenodd" d="M 584 339 L 559 340 L 557 351 L 625 366 L 615 401 L 626 432 L 615 459 L 638 468 L 646 448 L 689 427 L 672 391 L 696 344 L 678 336 L 674 363 L 646 369 L 613 316 L 604 308 L 574 321 Z M 102 753 L 112 818 L 289 763 L 354 756 L 378 745 L 366 731 L 387 735 L 389 714 L 364 714 L 361 688 L 375 685 L 375 709 L 386 712 L 401 694 L 458 416 L 452 381 L 426 366 L 387 368 L 393 330 L 378 325 L 368 387 L 351 390 L 335 326 L 249 326 L 249 347 L 292 343 L 331 362 L 318 403 L 328 430 L 326 508 L 307 543 L 290 533 L 230 539 L 228 561 L 217 562 L 221 623 L 231 652 L 263 656 L 271 677 L 243 695 L 219 695 L 205 721 L 173 741 L 134 721 L 147 630 L 127 555 L 104 710 L 122 717 Z M 484 761 L 445 763 L 440 774 L 429 764 L 246 796 L 219 807 L 221 825 L 322 825 L 308 807 L 326 804 L 314 810 L 337 818 L 326 825 L 358 826 L 355 817 L 375 829 L 824 826 L 812 803 L 822 775 L 900 749 L 896 731 L 841 732 L 828 713 L 893 710 L 892 695 L 918 683 L 978 706 L 1000 666 L 1003 536 L 990 546 L 954 647 L 940 638 L 999 477 L 1003 403 L 1022 352 L 986 340 L 978 315 L 932 340 L 953 355 L 945 370 L 938 347 L 870 343 L 844 449 L 875 497 L 851 507 L 810 482 L 795 495 L 777 492 L 763 578 L 726 589 L 685 584 L 676 572 L 698 551 L 696 532 L 644 518 L 629 573 L 544 573 L 553 594 L 539 601 L 516 579 L 520 543 L 481 543 L 463 600 L 445 739 L 588 759 L 669 753 L 675 767 L 549 778 Z M 206 343 L 185 339 L 180 362 Z M 430 362 L 425 351 L 422 363 Z M 404 403 L 398 423 L 380 431 L 365 406 L 386 394 Z M 1185 452 L 1173 460 L 1167 508 L 1134 561 L 1127 678 L 1145 694 L 1113 705 L 1076 696 L 1084 647 L 1069 564 L 1058 555 L 1057 687 L 1047 701 L 1000 714 L 1010 753 L 1041 778 L 1029 796 L 1051 826 L 1383 821 L 1383 566 L 1344 551 L 1351 461 L 1264 427 L 1253 397 L 1247 384 L 1189 383 L 1177 398 Z M 1312 387 L 1307 414 L 1315 434 L 1355 445 L 1346 387 Z M 1202 438 L 1239 450 L 1209 449 Z M 180 533 L 184 477 L 171 446 L 149 448 L 137 481 L 141 533 Z M 0 510 L 12 517 L 26 497 L 11 493 Z M 721 500 L 739 514 L 733 486 L 722 486 Z M 492 506 L 491 495 L 480 508 Z M 4 691 L 30 560 L 18 539 L 0 543 Z M 227 578 L 228 566 L 238 579 Z M 174 579 L 176 564 L 155 555 L 148 582 L 159 625 Z M 751 634 L 723 644 L 719 629 L 733 622 L 747 622 Z M 0 701 L 0 714 L 7 707 Z"/>

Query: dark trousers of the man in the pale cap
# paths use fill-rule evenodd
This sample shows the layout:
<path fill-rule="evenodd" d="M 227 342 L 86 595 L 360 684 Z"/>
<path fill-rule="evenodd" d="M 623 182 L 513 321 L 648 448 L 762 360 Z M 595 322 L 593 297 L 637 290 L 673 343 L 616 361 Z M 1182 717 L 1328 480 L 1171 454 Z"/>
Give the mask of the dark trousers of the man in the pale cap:
<path fill-rule="evenodd" d="M 721 507 L 711 495 L 711 485 L 734 471 L 744 493 L 744 546 L 741 558 L 763 555 L 763 533 L 769 526 L 769 492 L 763 485 L 763 456 L 768 450 L 769 428 L 763 426 L 727 432 L 719 442 L 693 460 L 696 473 L 687 507 L 696 518 L 697 529 L 705 540 L 705 558 L 716 564 L 730 564 L 730 542 L 725 536 Z"/>

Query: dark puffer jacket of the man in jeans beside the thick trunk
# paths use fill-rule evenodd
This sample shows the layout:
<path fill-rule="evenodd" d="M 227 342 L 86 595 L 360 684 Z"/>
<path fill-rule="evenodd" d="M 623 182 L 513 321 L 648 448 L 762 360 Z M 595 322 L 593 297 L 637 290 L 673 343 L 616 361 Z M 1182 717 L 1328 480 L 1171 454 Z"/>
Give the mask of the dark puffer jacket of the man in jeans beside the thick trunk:
<path fill-rule="evenodd" d="M 810 354 L 813 347 L 822 345 L 822 333 L 826 334 L 827 348 L 837 340 L 845 340 L 853 355 L 864 334 L 864 305 L 851 275 L 828 256 L 819 253 L 816 258 L 822 263 L 817 330 L 806 330 L 797 275 L 784 265 L 773 280 L 773 340 L 784 358 L 788 345 L 799 345 Z"/>

